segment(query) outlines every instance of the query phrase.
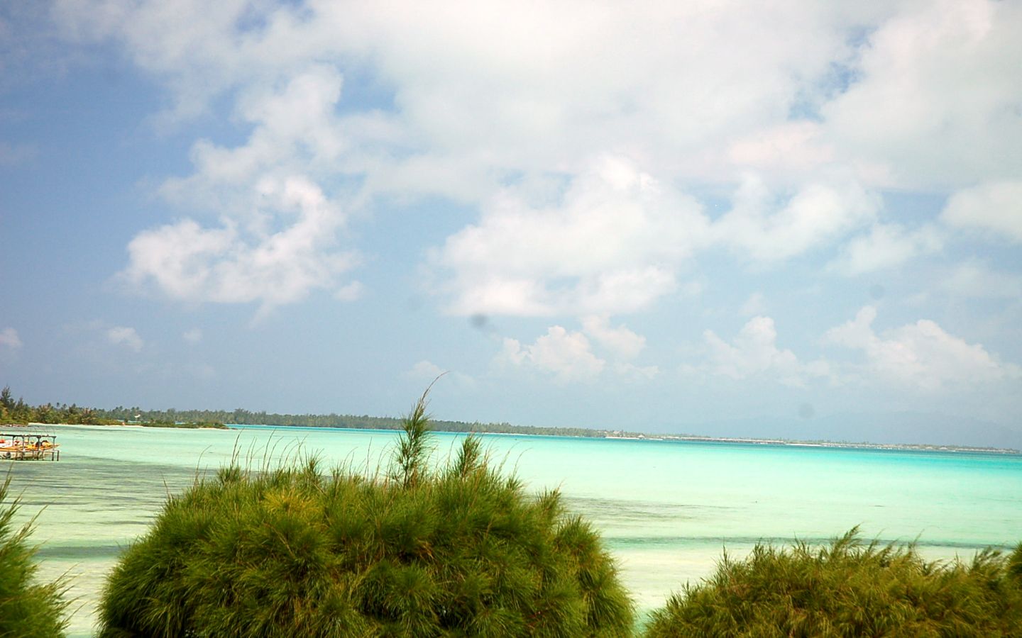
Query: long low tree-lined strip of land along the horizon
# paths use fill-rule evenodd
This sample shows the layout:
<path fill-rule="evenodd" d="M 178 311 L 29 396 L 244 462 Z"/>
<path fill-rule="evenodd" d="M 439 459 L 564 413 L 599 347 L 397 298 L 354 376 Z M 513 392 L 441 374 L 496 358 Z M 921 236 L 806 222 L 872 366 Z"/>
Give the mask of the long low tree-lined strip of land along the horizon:
<path fill-rule="evenodd" d="M 396 416 L 370 416 L 368 414 L 278 414 L 234 410 L 147 410 L 141 407 L 112 409 L 79 407 L 78 405 L 46 403 L 28 405 L 22 399 L 12 399 L 10 389 L 0 392 L 0 425 L 3 424 L 66 424 L 66 425 L 138 425 L 156 428 L 229 428 L 230 426 L 273 426 L 279 428 L 346 428 L 351 430 L 401 430 L 402 419 Z M 695 434 L 651 434 L 625 430 L 596 430 L 589 428 L 543 428 L 515 426 L 506 422 L 481 423 L 464 421 L 430 420 L 438 432 L 484 434 L 515 434 L 527 436 L 557 436 L 588 439 L 633 439 L 648 441 L 690 441 L 702 443 L 741 443 L 754 445 L 790 445 L 796 447 L 839 447 L 920 451 L 986 452 L 1019 454 L 1017 449 L 968 445 L 931 445 L 925 443 L 870 443 L 867 441 L 794 440 L 782 438 L 709 437 Z"/>

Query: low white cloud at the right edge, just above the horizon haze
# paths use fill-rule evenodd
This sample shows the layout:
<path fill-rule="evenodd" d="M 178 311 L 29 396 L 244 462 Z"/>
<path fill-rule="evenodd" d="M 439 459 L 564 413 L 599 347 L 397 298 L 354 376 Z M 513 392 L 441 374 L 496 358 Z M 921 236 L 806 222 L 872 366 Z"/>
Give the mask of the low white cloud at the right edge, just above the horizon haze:
<path fill-rule="evenodd" d="M 870 382 L 895 382 L 923 391 L 980 385 L 1017 378 L 1022 369 L 1002 363 L 980 344 L 947 334 L 935 322 L 920 320 L 878 336 L 877 310 L 865 306 L 847 324 L 832 328 L 825 343 L 862 350 Z"/>

